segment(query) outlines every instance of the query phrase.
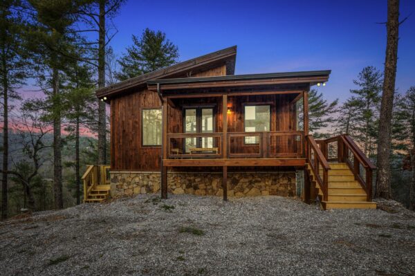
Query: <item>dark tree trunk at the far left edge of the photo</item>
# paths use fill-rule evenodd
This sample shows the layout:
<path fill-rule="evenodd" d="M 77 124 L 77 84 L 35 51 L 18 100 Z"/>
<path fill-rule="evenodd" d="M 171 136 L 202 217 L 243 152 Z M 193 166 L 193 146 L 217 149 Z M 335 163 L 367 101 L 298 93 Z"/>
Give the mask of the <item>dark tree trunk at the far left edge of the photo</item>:
<path fill-rule="evenodd" d="M 6 60 L 3 57 L 3 71 L 6 71 Z M 1 219 L 8 214 L 8 80 L 3 74 L 3 173 L 1 176 Z"/>

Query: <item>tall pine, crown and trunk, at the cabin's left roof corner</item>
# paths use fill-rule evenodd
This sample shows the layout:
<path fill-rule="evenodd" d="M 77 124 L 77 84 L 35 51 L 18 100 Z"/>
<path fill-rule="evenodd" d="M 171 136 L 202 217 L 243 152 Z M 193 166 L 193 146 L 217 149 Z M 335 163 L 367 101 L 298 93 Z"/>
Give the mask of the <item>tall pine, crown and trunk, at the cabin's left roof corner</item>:
<path fill-rule="evenodd" d="M 98 33 L 98 39 L 88 45 L 98 45 L 93 48 L 95 57 L 91 60 L 97 62 L 98 68 L 98 88 L 105 86 L 105 49 L 113 38 L 107 26 L 107 19 L 111 21 L 120 10 L 125 0 L 92 0 L 89 5 L 82 6 L 78 11 L 91 29 L 89 31 Z M 107 163 L 107 113 L 105 102 L 98 100 L 98 163 Z"/>

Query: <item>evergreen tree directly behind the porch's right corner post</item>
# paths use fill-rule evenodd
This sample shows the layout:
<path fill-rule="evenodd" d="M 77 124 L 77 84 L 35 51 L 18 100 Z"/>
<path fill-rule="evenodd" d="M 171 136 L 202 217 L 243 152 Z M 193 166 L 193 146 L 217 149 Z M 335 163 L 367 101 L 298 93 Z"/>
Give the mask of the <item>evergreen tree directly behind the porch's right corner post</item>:
<path fill-rule="evenodd" d="M 323 93 L 318 93 L 316 89 L 311 89 L 308 93 L 308 128 L 314 132 L 314 136 L 322 136 L 317 131 L 329 127 L 335 122 L 333 114 L 337 111 L 338 99 L 328 102 L 323 98 Z"/>

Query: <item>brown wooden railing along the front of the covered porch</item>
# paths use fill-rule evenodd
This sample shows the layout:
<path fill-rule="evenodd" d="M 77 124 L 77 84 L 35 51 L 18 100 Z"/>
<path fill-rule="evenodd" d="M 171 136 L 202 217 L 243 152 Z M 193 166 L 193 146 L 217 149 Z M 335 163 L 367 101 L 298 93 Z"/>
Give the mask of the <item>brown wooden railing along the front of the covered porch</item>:
<path fill-rule="evenodd" d="M 167 158 L 304 158 L 304 140 L 304 131 L 167 134 Z"/>

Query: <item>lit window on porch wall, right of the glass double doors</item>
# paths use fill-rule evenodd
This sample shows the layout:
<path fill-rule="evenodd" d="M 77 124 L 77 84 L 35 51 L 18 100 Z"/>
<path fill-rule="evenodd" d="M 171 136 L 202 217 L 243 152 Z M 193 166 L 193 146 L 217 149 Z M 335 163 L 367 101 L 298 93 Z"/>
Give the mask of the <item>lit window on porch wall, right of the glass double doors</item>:
<path fill-rule="evenodd" d="M 270 131 L 270 105 L 245 106 L 245 132 Z M 246 144 L 258 144 L 259 136 L 245 138 Z"/>

